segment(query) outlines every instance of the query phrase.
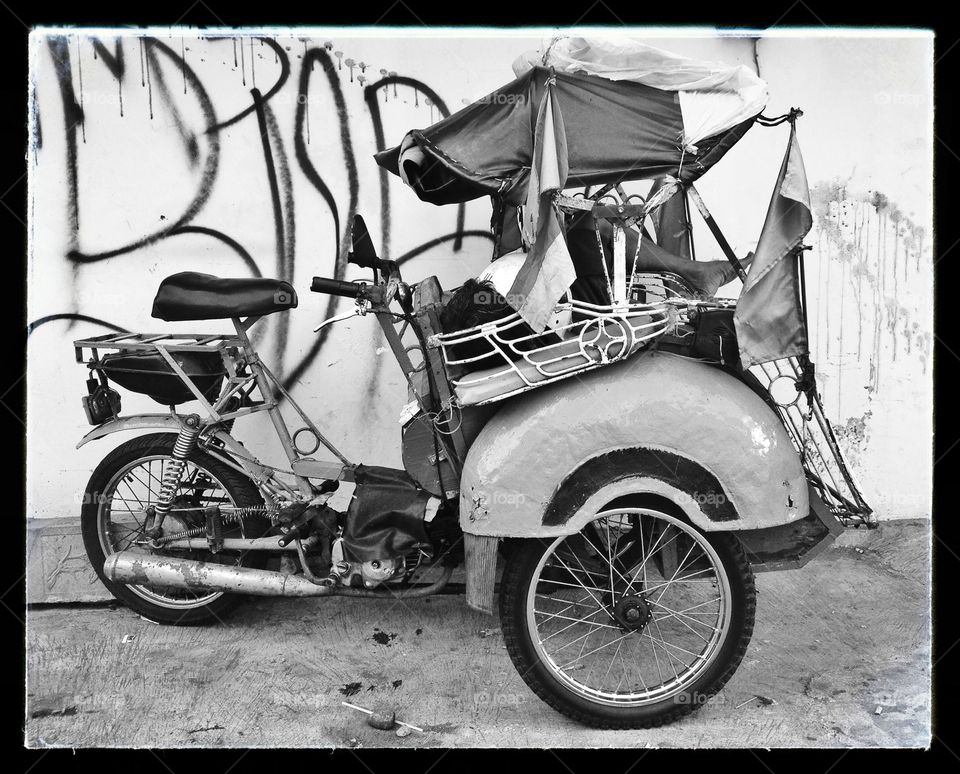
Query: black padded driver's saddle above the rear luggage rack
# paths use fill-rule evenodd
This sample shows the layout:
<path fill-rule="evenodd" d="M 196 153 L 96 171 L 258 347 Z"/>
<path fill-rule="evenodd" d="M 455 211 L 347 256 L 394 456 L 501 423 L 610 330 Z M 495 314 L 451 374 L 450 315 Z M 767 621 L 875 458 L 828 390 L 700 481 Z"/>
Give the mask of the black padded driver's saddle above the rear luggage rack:
<path fill-rule="evenodd" d="M 184 271 L 160 283 L 151 316 L 159 320 L 222 320 L 282 312 L 297 305 L 293 285 L 268 277 L 223 279 Z"/>

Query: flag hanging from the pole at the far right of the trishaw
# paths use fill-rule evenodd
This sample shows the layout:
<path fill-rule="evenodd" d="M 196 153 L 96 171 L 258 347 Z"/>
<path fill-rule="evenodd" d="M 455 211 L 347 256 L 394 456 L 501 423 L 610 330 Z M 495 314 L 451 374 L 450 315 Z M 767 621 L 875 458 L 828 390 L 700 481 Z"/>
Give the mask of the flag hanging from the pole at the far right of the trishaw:
<path fill-rule="evenodd" d="M 744 368 L 809 354 L 800 290 L 799 250 L 813 225 L 810 190 L 790 114 L 790 142 L 733 319 Z"/>

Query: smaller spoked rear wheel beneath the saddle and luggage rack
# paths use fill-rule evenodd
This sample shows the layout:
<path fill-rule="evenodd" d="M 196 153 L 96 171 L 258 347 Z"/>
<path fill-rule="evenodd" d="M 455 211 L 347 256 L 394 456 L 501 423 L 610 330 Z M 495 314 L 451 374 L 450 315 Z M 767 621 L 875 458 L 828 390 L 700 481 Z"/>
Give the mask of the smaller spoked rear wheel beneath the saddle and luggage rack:
<path fill-rule="evenodd" d="M 90 562 L 109 591 L 136 612 L 155 621 L 196 624 L 219 620 L 237 604 L 235 595 L 219 591 L 188 591 L 118 584 L 103 575 L 107 556 L 118 551 L 156 553 L 144 535 L 146 509 L 160 496 L 164 466 L 173 459 L 176 435 L 157 434 L 121 444 L 97 467 L 87 485 L 81 512 L 83 542 Z M 201 510 L 211 506 L 259 507 L 263 500 L 249 479 L 215 457 L 196 450 L 187 460 L 173 510 L 163 522 L 163 534 L 196 530 L 204 525 Z M 187 510 L 191 509 L 191 510 Z M 268 522 L 248 516 L 224 525 L 224 537 L 257 537 Z M 262 566 L 265 555 L 205 550 L 162 551 L 171 557 L 203 562 Z"/>

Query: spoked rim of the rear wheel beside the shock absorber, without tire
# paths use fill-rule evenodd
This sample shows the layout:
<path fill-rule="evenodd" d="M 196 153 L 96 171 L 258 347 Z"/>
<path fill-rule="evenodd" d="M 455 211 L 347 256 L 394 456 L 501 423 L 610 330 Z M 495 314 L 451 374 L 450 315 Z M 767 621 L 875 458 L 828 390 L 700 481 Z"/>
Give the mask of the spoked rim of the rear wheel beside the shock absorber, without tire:
<path fill-rule="evenodd" d="M 153 553 L 138 545 L 136 541 L 143 537 L 145 509 L 150 505 L 156 505 L 160 499 L 163 467 L 171 460 L 169 455 L 153 455 L 136 459 L 120 468 L 104 487 L 97 513 L 100 547 L 103 549 L 104 556 L 119 551 Z M 202 465 L 192 461 L 188 461 L 184 467 L 175 499 L 190 493 L 197 497 L 198 507 L 237 504 L 219 478 Z M 191 507 L 194 506 L 191 505 Z M 178 531 L 191 526 L 195 525 L 184 524 L 180 517 L 172 513 L 168 514 L 164 520 L 165 532 Z M 233 529 L 239 529 L 240 535 L 243 535 L 242 523 Z M 208 552 L 171 551 L 170 553 L 187 557 L 202 553 L 203 560 L 207 562 L 231 561 L 226 556 L 215 556 Z M 235 563 L 239 564 L 240 561 L 241 559 L 238 558 Z M 221 591 L 203 593 L 180 589 L 156 589 L 133 584 L 127 584 L 127 588 L 154 605 L 183 611 L 203 607 L 223 596 Z"/>

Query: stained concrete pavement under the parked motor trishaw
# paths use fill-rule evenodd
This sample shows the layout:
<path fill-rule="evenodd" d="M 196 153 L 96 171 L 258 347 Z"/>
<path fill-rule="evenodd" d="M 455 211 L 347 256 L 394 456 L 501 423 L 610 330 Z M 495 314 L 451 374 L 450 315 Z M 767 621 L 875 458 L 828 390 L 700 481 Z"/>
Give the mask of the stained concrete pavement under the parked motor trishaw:
<path fill-rule="evenodd" d="M 511 664 L 462 597 L 251 601 L 223 625 L 119 606 L 28 611 L 32 747 L 924 747 L 930 738 L 927 521 L 849 531 L 763 573 L 746 658 L 673 725 L 580 726 Z M 481 636 L 483 631 L 485 636 Z M 424 729 L 378 731 L 342 702 Z"/>

